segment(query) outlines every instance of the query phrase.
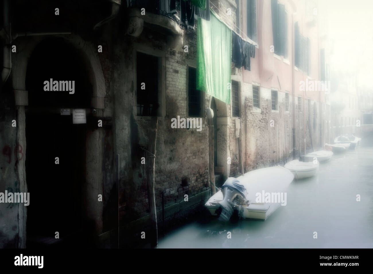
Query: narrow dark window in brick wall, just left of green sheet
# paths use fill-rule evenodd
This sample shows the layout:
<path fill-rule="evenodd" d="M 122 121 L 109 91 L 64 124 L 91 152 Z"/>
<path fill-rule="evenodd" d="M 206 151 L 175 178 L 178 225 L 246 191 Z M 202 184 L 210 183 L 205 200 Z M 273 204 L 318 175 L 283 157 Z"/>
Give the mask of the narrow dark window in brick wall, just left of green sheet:
<path fill-rule="evenodd" d="M 190 117 L 201 116 L 201 91 L 196 88 L 194 67 L 188 67 L 188 110 Z"/>

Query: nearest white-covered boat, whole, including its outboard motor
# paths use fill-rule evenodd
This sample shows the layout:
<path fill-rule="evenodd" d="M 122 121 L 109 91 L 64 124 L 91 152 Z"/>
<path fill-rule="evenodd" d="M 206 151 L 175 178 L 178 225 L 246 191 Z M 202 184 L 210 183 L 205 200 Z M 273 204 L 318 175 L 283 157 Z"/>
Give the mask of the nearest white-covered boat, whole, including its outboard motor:
<path fill-rule="evenodd" d="M 237 179 L 230 177 L 223 184 L 222 190 L 206 202 L 205 207 L 223 221 L 228 221 L 234 210 L 242 218 L 266 220 L 282 204 L 279 196 L 284 194 L 293 179 L 294 175 L 280 166 L 253 170 Z M 260 195 L 268 193 L 274 199 L 263 201 L 263 198 L 258 201 Z"/>

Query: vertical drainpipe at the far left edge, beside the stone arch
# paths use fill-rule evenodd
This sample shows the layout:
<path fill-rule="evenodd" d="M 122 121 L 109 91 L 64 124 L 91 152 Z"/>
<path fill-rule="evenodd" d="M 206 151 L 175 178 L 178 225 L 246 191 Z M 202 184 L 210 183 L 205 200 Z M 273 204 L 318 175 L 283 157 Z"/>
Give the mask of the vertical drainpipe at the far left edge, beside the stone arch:
<path fill-rule="evenodd" d="M 10 75 L 10 71 L 12 70 L 12 35 L 10 33 L 9 0 L 3 0 L 3 4 L 3 20 L 6 40 L 3 48 L 3 69 L 1 70 L 1 86 L 5 84 Z"/>

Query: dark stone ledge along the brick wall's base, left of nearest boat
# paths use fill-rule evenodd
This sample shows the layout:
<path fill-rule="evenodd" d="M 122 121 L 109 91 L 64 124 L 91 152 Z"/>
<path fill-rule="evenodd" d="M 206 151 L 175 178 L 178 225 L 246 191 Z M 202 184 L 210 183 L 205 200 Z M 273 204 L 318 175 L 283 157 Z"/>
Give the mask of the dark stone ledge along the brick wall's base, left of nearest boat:
<path fill-rule="evenodd" d="M 188 198 L 188 202 L 184 199 L 180 202 L 177 202 L 173 205 L 164 208 L 164 218 L 169 218 L 171 216 L 177 217 L 179 214 L 184 214 L 188 210 L 192 209 L 194 205 L 204 204 L 210 198 L 210 189 L 204 188 L 206 190 L 191 196 Z M 146 215 L 135 221 L 132 221 L 124 226 L 120 226 L 121 231 L 125 232 L 141 232 L 144 231 L 146 227 L 149 226 L 150 216 Z M 162 207 L 157 208 L 157 221 L 162 220 Z"/>

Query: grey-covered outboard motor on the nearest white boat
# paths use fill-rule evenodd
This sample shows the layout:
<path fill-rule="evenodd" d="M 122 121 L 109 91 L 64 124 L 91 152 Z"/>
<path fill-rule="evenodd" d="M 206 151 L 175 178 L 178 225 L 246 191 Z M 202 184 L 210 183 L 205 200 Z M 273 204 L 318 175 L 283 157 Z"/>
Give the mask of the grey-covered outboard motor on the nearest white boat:
<path fill-rule="evenodd" d="M 228 221 L 233 214 L 233 199 L 240 195 L 246 201 L 246 188 L 241 185 L 239 180 L 229 177 L 222 186 L 223 201 L 219 202 L 222 207 L 222 213 L 219 216 L 220 221 Z"/>

